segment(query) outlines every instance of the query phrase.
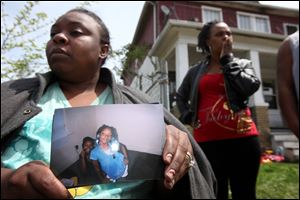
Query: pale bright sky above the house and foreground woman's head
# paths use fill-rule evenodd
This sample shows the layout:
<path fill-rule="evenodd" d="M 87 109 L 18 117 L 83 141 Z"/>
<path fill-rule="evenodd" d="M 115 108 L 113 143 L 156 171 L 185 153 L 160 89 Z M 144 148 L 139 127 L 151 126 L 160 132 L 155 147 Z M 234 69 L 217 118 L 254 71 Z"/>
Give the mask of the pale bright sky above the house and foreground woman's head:
<path fill-rule="evenodd" d="M 45 12 L 48 19 L 54 20 L 78 6 L 79 3 L 80 1 L 40 1 L 39 5 L 35 7 L 35 11 Z M 104 21 L 110 31 L 112 49 L 118 50 L 132 42 L 144 3 L 145 1 L 98 1 L 87 8 L 96 12 Z M 260 3 L 299 10 L 299 1 L 260 1 Z M 6 2 L 6 12 L 14 16 L 23 5 L 24 1 Z M 50 25 L 46 30 L 50 30 Z M 48 33 L 39 40 L 41 43 L 47 42 L 49 40 Z M 108 60 L 106 65 L 116 65 L 116 63 Z M 110 68 L 110 66 L 107 67 Z"/>

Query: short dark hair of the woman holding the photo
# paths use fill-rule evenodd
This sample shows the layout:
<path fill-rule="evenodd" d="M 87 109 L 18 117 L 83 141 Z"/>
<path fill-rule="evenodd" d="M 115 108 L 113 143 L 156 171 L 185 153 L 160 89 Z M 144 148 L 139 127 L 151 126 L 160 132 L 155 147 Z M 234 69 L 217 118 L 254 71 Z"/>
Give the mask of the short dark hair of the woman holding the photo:
<path fill-rule="evenodd" d="M 84 9 L 84 8 L 74 8 L 74 9 L 71 9 L 69 11 L 66 12 L 67 13 L 70 13 L 70 12 L 78 12 L 78 13 L 83 13 L 83 14 L 86 14 L 90 17 L 92 17 L 100 26 L 100 30 L 99 30 L 99 33 L 100 33 L 100 44 L 107 44 L 108 45 L 108 48 L 110 49 L 110 36 L 109 36 L 109 31 L 108 31 L 108 28 L 106 27 L 106 25 L 104 24 L 104 22 L 102 21 L 102 19 L 96 15 L 94 12 L 90 11 L 90 10 L 87 10 L 87 9 Z M 105 59 L 103 59 L 103 62 L 101 65 L 104 65 L 105 63 Z"/>

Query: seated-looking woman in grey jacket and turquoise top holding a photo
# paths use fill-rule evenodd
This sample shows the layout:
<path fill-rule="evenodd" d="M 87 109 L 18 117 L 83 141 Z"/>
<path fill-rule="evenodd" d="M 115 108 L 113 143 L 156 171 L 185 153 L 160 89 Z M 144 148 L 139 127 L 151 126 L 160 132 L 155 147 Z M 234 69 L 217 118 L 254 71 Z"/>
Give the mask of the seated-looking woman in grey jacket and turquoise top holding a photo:
<path fill-rule="evenodd" d="M 56 109 L 155 103 L 148 95 L 117 84 L 113 73 L 103 66 L 110 50 L 110 34 L 94 12 L 83 8 L 67 11 L 57 18 L 49 35 L 46 56 L 50 71 L 1 84 L 4 199 L 70 197 L 49 168 Z M 164 122 L 162 180 L 105 187 L 96 184 L 80 198 L 214 198 L 214 172 L 192 134 L 166 109 Z"/>

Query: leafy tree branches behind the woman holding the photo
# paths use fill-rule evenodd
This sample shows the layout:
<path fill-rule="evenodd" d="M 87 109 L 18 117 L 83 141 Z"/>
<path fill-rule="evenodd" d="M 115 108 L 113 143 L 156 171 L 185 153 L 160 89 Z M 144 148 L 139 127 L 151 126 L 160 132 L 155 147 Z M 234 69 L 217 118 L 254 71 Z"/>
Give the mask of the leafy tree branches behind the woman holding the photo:
<path fill-rule="evenodd" d="M 49 35 L 49 25 L 55 21 L 48 19 L 45 12 L 34 12 L 39 1 L 26 1 L 15 16 L 8 14 L 7 3 L 1 1 L 1 82 L 30 77 L 36 72 L 48 70 L 46 43 L 41 44 L 38 39 Z M 94 3 L 81 1 L 78 7 Z M 132 80 L 146 52 L 146 46 L 131 44 L 111 51 L 110 59 L 118 63 L 113 70 L 117 75 Z M 135 67 L 132 67 L 133 64 Z M 117 65 L 121 65 L 121 68 Z"/>

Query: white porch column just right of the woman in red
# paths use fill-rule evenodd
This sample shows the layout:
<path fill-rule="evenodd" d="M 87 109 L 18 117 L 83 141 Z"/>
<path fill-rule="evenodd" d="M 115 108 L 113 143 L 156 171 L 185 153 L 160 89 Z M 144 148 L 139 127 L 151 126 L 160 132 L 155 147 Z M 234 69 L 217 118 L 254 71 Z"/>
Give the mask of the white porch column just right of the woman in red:
<path fill-rule="evenodd" d="M 252 95 L 252 97 L 250 99 L 250 101 L 252 101 L 252 104 L 253 104 L 251 106 L 267 106 L 268 107 L 269 104 L 265 102 L 264 96 L 263 96 L 263 86 L 262 86 L 262 78 L 261 78 L 260 62 L 259 62 L 258 51 L 250 50 L 249 56 L 250 56 L 250 60 L 252 61 L 252 65 L 254 67 L 256 76 L 261 81 L 261 85 L 260 85 L 258 91 L 256 91 L 254 93 L 254 95 Z"/>

